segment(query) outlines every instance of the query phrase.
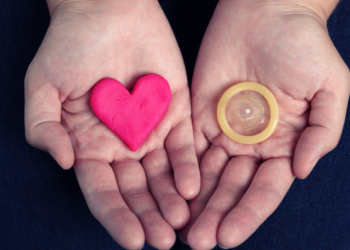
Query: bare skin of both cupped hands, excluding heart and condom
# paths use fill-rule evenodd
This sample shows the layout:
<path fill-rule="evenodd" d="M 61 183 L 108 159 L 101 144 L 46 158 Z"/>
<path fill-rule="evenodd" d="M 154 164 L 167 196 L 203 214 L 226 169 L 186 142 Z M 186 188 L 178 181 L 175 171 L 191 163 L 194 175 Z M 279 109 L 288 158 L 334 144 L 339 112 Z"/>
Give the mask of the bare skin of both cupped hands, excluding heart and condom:
<path fill-rule="evenodd" d="M 193 79 L 202 189 L 180 234 L 193 249 L 241 244 L 278 206 L 294 176 L 305 178 L 337 144 L 349 74 L 325 25 L 335 1 L 324 1 L 327 8 L 319 2 L 220 2 Z M 199 178 L 186 76 L 163 13 L 154 1 L 48 5 L 52 23 L 25 80 L 28 142 L 64 169 L 74 162 L 92 213 L 120 245 L 137 249 L 146 239 L 170 248 L 172 228 L 189 217 L 184 198 L 196 195 Z M 94 117 L 89 93 L 104 77 L 132 89 L 153 72 L 169 80 L 173 101 L 132 153 Z M 213 115 L 221 94 L 247 80 L 270 88 L 281 111 L 276 133 L 254 146 L 229 141 Z"/>

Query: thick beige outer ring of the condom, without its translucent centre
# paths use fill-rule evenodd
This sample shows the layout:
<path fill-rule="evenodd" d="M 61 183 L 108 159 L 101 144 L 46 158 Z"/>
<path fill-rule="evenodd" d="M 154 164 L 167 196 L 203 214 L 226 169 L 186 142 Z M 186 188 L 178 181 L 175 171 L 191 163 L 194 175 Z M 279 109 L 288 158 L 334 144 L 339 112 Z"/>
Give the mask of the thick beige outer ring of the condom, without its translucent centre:
<path fill-rule="evenodd" d="M 230 127 L 226 118 L 226 106 L 230 99 L 237 93 L 246 90 L 261 94 L 270 108 L 270 121 L 263 131 L 255 135 L 238 134 Z M 275 131 L 279 119 L 278 104 L 273 94 L 265 86 L 255 82 L 242 82 L 232 86 L 222 95 L 217 108 L 217 118 L 222 131 L 231 140 L 242 144 L 255 144 L 266 140 Z"/>

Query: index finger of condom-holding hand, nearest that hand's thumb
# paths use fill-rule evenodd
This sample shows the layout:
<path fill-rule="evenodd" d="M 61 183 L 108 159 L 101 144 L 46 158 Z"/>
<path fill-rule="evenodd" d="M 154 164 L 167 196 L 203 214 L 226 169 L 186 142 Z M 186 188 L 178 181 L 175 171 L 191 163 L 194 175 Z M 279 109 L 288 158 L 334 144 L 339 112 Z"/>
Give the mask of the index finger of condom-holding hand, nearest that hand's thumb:
<path fill-rule="evenodd" d="M 218 244 L 233 248 L 243 243 L 281 203 L 293 180 L 291 159 L 276 158 L 261 164 L 247 192 L 221 222 Z"/>

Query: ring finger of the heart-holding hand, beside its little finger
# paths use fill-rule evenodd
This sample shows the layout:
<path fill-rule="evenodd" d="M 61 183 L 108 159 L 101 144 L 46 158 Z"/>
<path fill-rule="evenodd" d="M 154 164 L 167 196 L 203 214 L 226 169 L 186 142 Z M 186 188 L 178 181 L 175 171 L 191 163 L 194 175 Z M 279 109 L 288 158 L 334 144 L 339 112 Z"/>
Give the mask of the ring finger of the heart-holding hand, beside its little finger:
<path fill-rule="evenodd" d="M 190 219 L 186 201 L 178 194 L 166 151 L 152 151 L 142 160 L 148 186 L 157 201 L 164 219 L 174 228 L 180 229 Z"/>

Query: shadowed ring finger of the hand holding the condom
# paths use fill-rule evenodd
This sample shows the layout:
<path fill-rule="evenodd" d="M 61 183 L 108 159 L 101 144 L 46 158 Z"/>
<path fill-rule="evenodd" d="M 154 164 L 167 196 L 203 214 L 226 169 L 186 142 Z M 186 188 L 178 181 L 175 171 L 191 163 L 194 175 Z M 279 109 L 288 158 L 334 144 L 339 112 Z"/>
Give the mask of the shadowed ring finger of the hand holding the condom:
<path fill-rule="evenodd" d="M 179 237 L 183 242 L 187 243 L 188 232 L 214 193 L 228 160 L 229 157 L 225 150 L 213 145 L 203 156 L 200 163 L 201 190 L 198 196 L 189 204 L 190 222 L 179 231 Z"/>

